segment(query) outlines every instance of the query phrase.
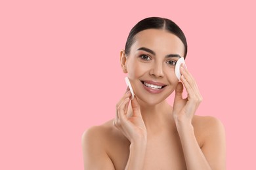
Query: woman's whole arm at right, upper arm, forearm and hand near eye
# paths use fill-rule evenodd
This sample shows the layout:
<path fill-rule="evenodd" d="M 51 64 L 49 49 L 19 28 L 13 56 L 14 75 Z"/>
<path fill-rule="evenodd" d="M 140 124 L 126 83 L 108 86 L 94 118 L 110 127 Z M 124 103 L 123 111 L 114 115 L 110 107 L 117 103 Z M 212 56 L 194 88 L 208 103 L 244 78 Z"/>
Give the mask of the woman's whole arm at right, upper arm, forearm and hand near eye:
<path fill-rule="evenodd" d="M 181 82 L 175 90 L 173 118 L 181 139 L 186 167 L 189 170 L 225 169 L 225 140 L 222 124 L 211 118 L 202 131 L 209 135 L 204 136 L 203 146 L 200 148 L 194 134 L 192 118 L 202 101 L 196 80 L 184 65 L 181 66 Z M 183 85 L 188 97 L 182 99 Z"/>

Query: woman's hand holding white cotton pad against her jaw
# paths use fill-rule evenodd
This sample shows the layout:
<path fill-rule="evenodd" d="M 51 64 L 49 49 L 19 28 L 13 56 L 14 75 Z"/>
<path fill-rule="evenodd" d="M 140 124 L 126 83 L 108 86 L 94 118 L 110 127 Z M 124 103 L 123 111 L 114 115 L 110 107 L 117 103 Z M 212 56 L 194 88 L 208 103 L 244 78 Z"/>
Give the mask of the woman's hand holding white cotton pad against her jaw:
<path fill-rule="evenodd" d="M 146 141 L 146 126 L 141 116 L 137 97 L 135 96 L 133 100 L 131 100 L 130 97 L 131 92 L 128 91 L 117 103 L 114 126 L 116 126 L 131 143 L 140 143 L 141 141 Z M 133 109 L 132 115 L 127 114 L 130 100 Z"/>

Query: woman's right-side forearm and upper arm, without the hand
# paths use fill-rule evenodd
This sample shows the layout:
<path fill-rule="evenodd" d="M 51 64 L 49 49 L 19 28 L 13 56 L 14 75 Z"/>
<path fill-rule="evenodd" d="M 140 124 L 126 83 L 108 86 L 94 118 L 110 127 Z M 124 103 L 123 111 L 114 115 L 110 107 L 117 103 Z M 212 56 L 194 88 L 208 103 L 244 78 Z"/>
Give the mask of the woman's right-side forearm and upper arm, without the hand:
<path fill-rule="evenodd" d="M 215 118 L 207 118 L 203 146 L 200 148 L 194 127 L 188 122 L 177 122 L 187 169 L 226 169 L 224 128 Z"/>

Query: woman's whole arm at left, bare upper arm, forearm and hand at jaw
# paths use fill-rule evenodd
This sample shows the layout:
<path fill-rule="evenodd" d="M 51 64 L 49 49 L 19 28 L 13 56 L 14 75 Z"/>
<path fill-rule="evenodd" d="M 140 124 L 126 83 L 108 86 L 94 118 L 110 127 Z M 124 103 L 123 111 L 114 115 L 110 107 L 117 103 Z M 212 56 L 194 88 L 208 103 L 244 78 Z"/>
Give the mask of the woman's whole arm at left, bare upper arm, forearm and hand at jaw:
<path fill-rule="evenodd" d="M 146 153 L 146 127 L 140 113 L 137 97 L 131 101 L 131 92 L 125 93 L 116 106 L 114 126 L 129 139 L 130 152 L 125 170 L 141 170 Z M 127 109 L 131 101 L 133 115 L 127 116 Z M 102 143 L 102 129 L 91 127 L 83 133 L 83 161 L 85 169 L 115 169 L 112 160 L 106 153 L 106 146 Z"/>

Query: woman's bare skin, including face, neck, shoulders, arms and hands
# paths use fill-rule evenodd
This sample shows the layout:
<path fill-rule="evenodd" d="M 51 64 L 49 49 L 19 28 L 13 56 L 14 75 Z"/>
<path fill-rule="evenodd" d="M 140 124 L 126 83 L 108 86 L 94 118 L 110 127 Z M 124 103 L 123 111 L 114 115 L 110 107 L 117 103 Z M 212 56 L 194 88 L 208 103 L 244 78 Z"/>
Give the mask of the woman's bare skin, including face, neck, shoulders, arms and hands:
<path fill-rule="evenodd" d="M 154 52 L 138 50 L 144 47 Z M 184 65 L 181 81 L 169 54 L 184 55 L 184 45 L 163 29 L 146 29 L 135 36 L 128 56 L 120 62 L 135 99 L 127 90 L 116 105 L 116 117 L 83 133 L 85 169 L 226 169 L 223 124 L 196 116 L 202 101 L 196 80 Z M 144 89 L 141 80 L 165 84 L 161 93 Z M 182 98 L 183 88 L 188 97 Z M 175 92 L 173 107 L 165 100 Z"/>

